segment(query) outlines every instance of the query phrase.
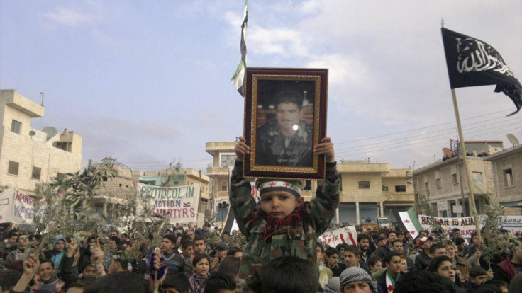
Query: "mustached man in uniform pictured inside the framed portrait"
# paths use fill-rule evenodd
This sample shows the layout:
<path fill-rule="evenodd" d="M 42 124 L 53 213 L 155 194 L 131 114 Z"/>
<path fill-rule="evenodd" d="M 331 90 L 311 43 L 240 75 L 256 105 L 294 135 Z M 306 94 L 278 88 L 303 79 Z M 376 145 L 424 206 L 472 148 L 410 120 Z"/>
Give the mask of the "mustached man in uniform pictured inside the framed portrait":
<path fill-rule="evenodd" d="M 257 165 L 312 166 L 313 127 L 301 119 L 302 107 L 296 91 L 275 95 L 275 118 L 257 127 Z"/>

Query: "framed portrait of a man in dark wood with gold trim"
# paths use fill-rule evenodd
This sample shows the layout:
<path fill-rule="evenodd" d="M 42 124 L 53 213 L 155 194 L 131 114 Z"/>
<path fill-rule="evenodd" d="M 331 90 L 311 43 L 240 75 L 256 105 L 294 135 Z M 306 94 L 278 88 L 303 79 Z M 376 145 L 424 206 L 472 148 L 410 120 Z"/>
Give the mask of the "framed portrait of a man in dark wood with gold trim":
<path fill-rule="evenodd" d="M 328 69 L 248 68 L 246 76 L 243 175 L 323 180 L 325 159 L 313 146 L 326 137 Z"/>

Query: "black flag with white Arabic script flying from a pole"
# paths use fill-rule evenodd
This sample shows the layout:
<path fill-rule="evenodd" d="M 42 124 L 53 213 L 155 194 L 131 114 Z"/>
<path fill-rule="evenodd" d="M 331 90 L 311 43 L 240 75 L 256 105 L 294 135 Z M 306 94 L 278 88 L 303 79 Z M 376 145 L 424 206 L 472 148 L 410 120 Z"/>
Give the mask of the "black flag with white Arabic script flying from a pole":
<path fill-rule="evenodd" d="M 522 107 L 522 86 L 499 52 L 482 40 L 442 28 L 444 52 L 451 88 L 496 84 L 495 92 L 504 93 Z"/>

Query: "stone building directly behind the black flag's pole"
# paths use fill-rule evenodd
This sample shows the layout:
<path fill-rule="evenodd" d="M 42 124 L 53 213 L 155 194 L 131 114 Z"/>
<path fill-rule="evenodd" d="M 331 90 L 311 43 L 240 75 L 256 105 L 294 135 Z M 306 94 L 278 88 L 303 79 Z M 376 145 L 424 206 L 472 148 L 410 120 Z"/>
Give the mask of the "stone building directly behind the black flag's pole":
<path fill-rule="evenodd" d="M 468 147 L 468 143 L 470 147 Z M 473 180 L 475 206 L 479 214 L 484 212 L 485 197 L 494 193 L 492 163 L 485 160 L 502 148 L 499 141 L 466 142 L 469 154 L 467 163 Z M 457 154 L 457 151 L 453 151 Z M 470 216 L 470 190 L 464 161 L 458 156 L 431 163 L 413 173 L 413 181 L 418 193 L 428 195 L 433 214 L 438 217 L 461 217 L 462 202 L 465 216 Z M 456 206 L 456 207 L 455 207 Z"/>

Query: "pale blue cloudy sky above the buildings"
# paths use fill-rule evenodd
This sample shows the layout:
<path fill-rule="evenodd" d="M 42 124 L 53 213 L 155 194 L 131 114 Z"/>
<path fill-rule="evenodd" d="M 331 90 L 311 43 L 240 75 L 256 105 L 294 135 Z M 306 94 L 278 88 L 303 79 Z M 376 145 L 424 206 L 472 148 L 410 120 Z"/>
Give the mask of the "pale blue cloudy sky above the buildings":
<path fill-rule="evenodd" d="M 206 171 L 206 142 L 243 133 L 231 85 L 243 0 L 0 1 L 0 88 L 40 103 L 32 121 L 83 137 L 84 163 Z M 478 38 L 522 76 L 522 1 L 255 1 L 249 67 L 329 69 L 338 161 L 419 168 L 458 139 L 440 34 Z M 457 88 L 466 140 L 522 141 L 522 113 L 494 86 Z"/>

